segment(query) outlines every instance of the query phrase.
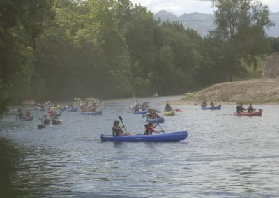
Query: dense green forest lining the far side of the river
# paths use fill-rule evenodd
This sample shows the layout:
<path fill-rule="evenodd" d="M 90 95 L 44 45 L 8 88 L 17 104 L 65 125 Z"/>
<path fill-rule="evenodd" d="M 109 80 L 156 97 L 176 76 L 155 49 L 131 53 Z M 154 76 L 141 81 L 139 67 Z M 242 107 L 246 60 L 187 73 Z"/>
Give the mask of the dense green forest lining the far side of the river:
<path fill-rule="evenodd" d="M 182 94 L 232 81 L 241 60 L 257 70 L 279 38 L 253 2 L 212 1 L 217 27 L 202 38 L 129 0 L 1 1 L 0 114 L 29 98 Z"/>

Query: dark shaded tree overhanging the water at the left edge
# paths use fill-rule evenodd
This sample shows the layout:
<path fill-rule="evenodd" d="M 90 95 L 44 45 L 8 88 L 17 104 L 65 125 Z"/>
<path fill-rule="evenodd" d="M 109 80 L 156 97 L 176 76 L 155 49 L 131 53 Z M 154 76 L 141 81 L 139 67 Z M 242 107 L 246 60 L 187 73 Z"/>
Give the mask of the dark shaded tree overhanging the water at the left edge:
<path fill-rule="evenodd" d="M 8 94 L 12 102 L 29 97 L 33 49 L 53 17 L 51 8 L 52 0 L 0 1 L 0 95 Z"/>

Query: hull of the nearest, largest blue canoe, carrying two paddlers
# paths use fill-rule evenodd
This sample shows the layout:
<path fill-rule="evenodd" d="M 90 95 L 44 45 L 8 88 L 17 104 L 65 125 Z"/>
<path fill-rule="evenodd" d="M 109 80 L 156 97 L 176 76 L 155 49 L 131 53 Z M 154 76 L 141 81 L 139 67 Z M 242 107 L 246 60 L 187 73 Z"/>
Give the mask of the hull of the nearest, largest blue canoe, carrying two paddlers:
<path fill-rule="evenodd" d="M 130 135 L 130 136 L 112 136 L 100 135 L 102 141 L 112 142 L 179 142 L 186 139 L 187 131 L 172 132 L 159 135 Z"/>

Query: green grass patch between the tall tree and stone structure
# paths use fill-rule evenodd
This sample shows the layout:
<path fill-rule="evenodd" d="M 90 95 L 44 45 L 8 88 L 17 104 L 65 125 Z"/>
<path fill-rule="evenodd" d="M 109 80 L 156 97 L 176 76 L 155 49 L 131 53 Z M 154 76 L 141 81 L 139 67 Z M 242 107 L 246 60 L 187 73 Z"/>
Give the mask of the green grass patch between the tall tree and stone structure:
<path fill-rule="evenodd" d="M 247 73 L 240 73 L 234 77 L 234 81 L 250 80 L 250 79 L 261 79 L 262 71 L 264 70 L 264 60 L 257 58 L 257 70 L 254 71 L 254 66 L 248 67 L 244 61 L 241 61 L 243 68 L 246 69 Z"/>

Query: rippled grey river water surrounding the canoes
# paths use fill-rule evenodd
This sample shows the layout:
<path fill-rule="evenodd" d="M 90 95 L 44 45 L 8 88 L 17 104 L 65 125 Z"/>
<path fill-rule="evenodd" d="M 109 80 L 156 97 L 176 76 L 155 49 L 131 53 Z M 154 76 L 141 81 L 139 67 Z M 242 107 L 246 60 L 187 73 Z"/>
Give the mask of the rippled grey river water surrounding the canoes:
<path fill-rule="evenodd" d="M 138 100 L 158 109 L 179 98 Z M 63 112 L 62 125 L 42 130 L 36 126 L 43 112 L 31 122 L 15 121 L 15 112 L 5 116 L 1 197 L 278 197 L 278 106 L 257 106 L 262 117 L 234 116 L 234 106 L 173 106 L 183 112 L 161 126 L 187 130 L 183 142 L 100 142 L 117 115 L 129 132 L 144 132 L 145 119 L 126 110 L 133 102 L 107 101 L 102 116 Z"/>

